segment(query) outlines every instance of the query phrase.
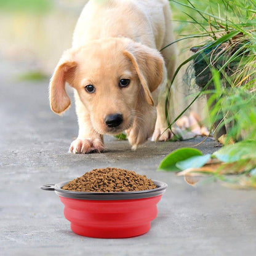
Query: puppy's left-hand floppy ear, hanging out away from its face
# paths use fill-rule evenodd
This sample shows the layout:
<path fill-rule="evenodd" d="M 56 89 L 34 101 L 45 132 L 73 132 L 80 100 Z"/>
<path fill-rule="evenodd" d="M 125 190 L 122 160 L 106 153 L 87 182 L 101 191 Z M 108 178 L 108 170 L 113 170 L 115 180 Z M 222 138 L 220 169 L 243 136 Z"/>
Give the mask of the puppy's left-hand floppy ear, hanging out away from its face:
<path fill-rule="evenodd" d="M 66 94 L 65 82 L 72 84 L 76 67 L 77 63 L 73 60 L 73 50 L 66 50 L 50 79 L 50 108 L 54 113 L 61 114 L 70 106 L 70 97 Z"/>

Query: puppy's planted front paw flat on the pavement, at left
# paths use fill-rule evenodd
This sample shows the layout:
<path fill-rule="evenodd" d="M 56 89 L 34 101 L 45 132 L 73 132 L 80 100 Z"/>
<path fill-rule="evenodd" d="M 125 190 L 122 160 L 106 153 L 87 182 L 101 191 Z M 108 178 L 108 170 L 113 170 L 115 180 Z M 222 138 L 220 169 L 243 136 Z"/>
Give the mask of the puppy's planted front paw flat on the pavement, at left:
<path fill-rule="evenodd" d="M 70 145 L 70 152 L 74 154 L 100 153 L 103 150 L 104 144 L 100 138 L 77 138 Z"/>

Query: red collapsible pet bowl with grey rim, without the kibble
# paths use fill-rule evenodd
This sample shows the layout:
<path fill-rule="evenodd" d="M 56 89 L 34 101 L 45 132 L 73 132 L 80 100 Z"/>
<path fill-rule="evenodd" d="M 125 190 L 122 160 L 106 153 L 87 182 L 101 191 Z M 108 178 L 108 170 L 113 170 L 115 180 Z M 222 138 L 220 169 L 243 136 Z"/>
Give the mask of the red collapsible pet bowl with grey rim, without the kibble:
<path fill-rule="evenodd" d="M 55 190 L 63 202 L 64 215 L 71 230 L 92 238 L 129 238 L 150 230 L 156 218 L 156 204 L 167 184 L 153 180 L 157 188 L 130 192 L 78 192 L 62 190 L 68 182 L 44 185 L 42 190 Z"/>

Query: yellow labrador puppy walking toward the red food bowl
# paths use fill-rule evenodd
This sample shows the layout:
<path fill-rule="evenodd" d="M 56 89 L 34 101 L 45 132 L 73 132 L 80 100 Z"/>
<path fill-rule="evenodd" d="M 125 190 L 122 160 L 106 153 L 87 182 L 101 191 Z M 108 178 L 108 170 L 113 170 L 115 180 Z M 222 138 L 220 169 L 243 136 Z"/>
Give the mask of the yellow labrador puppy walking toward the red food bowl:
<path fill-rule="evenodd" d="M 50 81 L 50 106 L 70 106 L 65 82 L 74 88 L 78 138 L 73 153 L 100 152 L 103 134 L 126 131 L 132 148 L 156 140 L 167 122 L 164 95 L 172 78 L 175 48 L 167 0 L 90 0 Z M 162 90 L 163 92 L 164 90 Z M 168 140 L 167 130 L 160 140 Z"/>

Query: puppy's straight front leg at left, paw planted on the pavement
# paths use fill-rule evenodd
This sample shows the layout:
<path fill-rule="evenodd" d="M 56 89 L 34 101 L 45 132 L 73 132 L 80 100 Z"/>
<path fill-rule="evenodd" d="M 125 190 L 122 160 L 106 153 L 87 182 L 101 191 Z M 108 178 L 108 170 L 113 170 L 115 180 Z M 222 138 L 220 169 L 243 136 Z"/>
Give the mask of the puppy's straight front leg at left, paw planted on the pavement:
<path fill-rule="evenodd" d="M 70 152 L 76 153 L 91 153 L 102 152 L 104 150 L 103 136 L 98 134 L 92 127 L 90 116 L 86 107 L 82 104 L 77 93 L 76 99 L 76 114 L 78 115 L 79 134 L 78 138 L 70 145 Z"/>

